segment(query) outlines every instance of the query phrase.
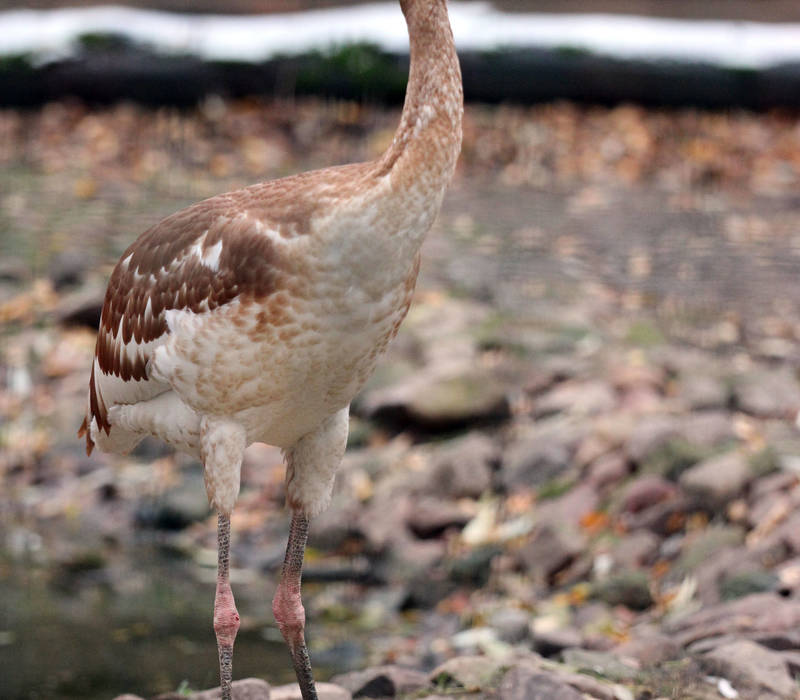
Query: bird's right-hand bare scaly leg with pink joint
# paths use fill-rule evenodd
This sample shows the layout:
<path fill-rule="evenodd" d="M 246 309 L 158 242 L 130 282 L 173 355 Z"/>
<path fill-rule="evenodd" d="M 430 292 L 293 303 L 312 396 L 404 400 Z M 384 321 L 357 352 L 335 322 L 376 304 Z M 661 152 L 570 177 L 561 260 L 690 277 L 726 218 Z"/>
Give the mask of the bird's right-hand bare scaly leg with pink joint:
<path fill-rule="evenodd" d="M 289 645 L 294 672 L 300 685 L 303 700 L 317 700 L 314 677 L 311 673 L 311 659 L 308 656 L 305 636 L 306 611 L 300 598 L 300 576 L 303 572 L 303 556 L 308 539 L 308 518 L 300 512 L 292 513 L 289 526 L 289 542 L 278 590 L 272 600 L 272 612 Z"/>

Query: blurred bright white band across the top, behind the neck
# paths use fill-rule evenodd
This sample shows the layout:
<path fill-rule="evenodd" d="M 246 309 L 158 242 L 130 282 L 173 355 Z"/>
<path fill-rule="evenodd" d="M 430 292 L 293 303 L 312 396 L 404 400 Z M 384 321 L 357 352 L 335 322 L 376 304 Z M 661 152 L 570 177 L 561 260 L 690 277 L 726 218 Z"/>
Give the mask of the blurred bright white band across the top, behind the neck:
<path fill-rule="evenodd" d="M 622 59 L 708 62 L 759 69 L 800 62 L 800 23 L 677 20 L 631 15 L 504 13 L 485 2 L 451 2 L 462 50 L 569 48 Z M 0 55 L 49 61 L 74 53 L 86 33 L 114 33 L 165 54 L 262 61 L 351 42 L 408 50 L 396 2 L 277 15 L 182 15 L 103 6 L 0 12 Z"/>

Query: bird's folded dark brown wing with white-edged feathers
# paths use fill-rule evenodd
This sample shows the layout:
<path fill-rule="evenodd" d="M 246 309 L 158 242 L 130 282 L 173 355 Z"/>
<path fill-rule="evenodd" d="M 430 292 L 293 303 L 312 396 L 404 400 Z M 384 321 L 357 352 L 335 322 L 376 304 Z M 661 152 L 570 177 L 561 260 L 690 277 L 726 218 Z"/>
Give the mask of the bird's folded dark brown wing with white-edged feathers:
<path fill-rule="evenodd" d="M 153 351 L 169 333 L 167 311 L 204 314 L 237 297 L 259 299 L 274 291 L 281 266 L 274 233 L 240 204 L 222 195 L 177 212 L 143 233 L 117 263 L 103 304 L 87 412 L 78 433 L 86 436 L 87 452 L 98 436 L 104 449 L 130 450 L 142 436 L 112 431 L 108 409 L 170 389 L 148 372 Z"/>

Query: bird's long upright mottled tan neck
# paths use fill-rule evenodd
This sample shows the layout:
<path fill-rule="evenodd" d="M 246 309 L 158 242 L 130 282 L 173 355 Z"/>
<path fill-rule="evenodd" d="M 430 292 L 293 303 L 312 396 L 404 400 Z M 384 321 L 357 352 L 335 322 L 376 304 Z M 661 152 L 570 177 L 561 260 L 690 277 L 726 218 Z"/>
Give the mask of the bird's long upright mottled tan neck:
<path fill-rule="evenodd" d="M 411 67 L 403 115 L 378 162 L 409 198 L 441 201 L 461 150 L 463 93 L 445 0 L 401 0 Z M 411 202 L 409 202 L 411 204 Z"/>

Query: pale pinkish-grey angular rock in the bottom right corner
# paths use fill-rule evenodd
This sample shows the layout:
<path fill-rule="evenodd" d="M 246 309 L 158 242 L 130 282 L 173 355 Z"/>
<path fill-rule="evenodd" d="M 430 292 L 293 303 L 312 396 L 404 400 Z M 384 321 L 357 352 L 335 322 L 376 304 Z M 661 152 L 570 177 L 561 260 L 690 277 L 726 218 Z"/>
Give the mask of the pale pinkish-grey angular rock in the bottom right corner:
<path fill-rule="evenodd" d="M 717 647 L 699 659 L 702 666 L 724 676 L 740 694 L 768 691 L 779 698 L 795 697 L 797 685 L 780 654 L 760 644 L 740 639 Z M 754 697 L 747 695 L 747 697 Z"/>

